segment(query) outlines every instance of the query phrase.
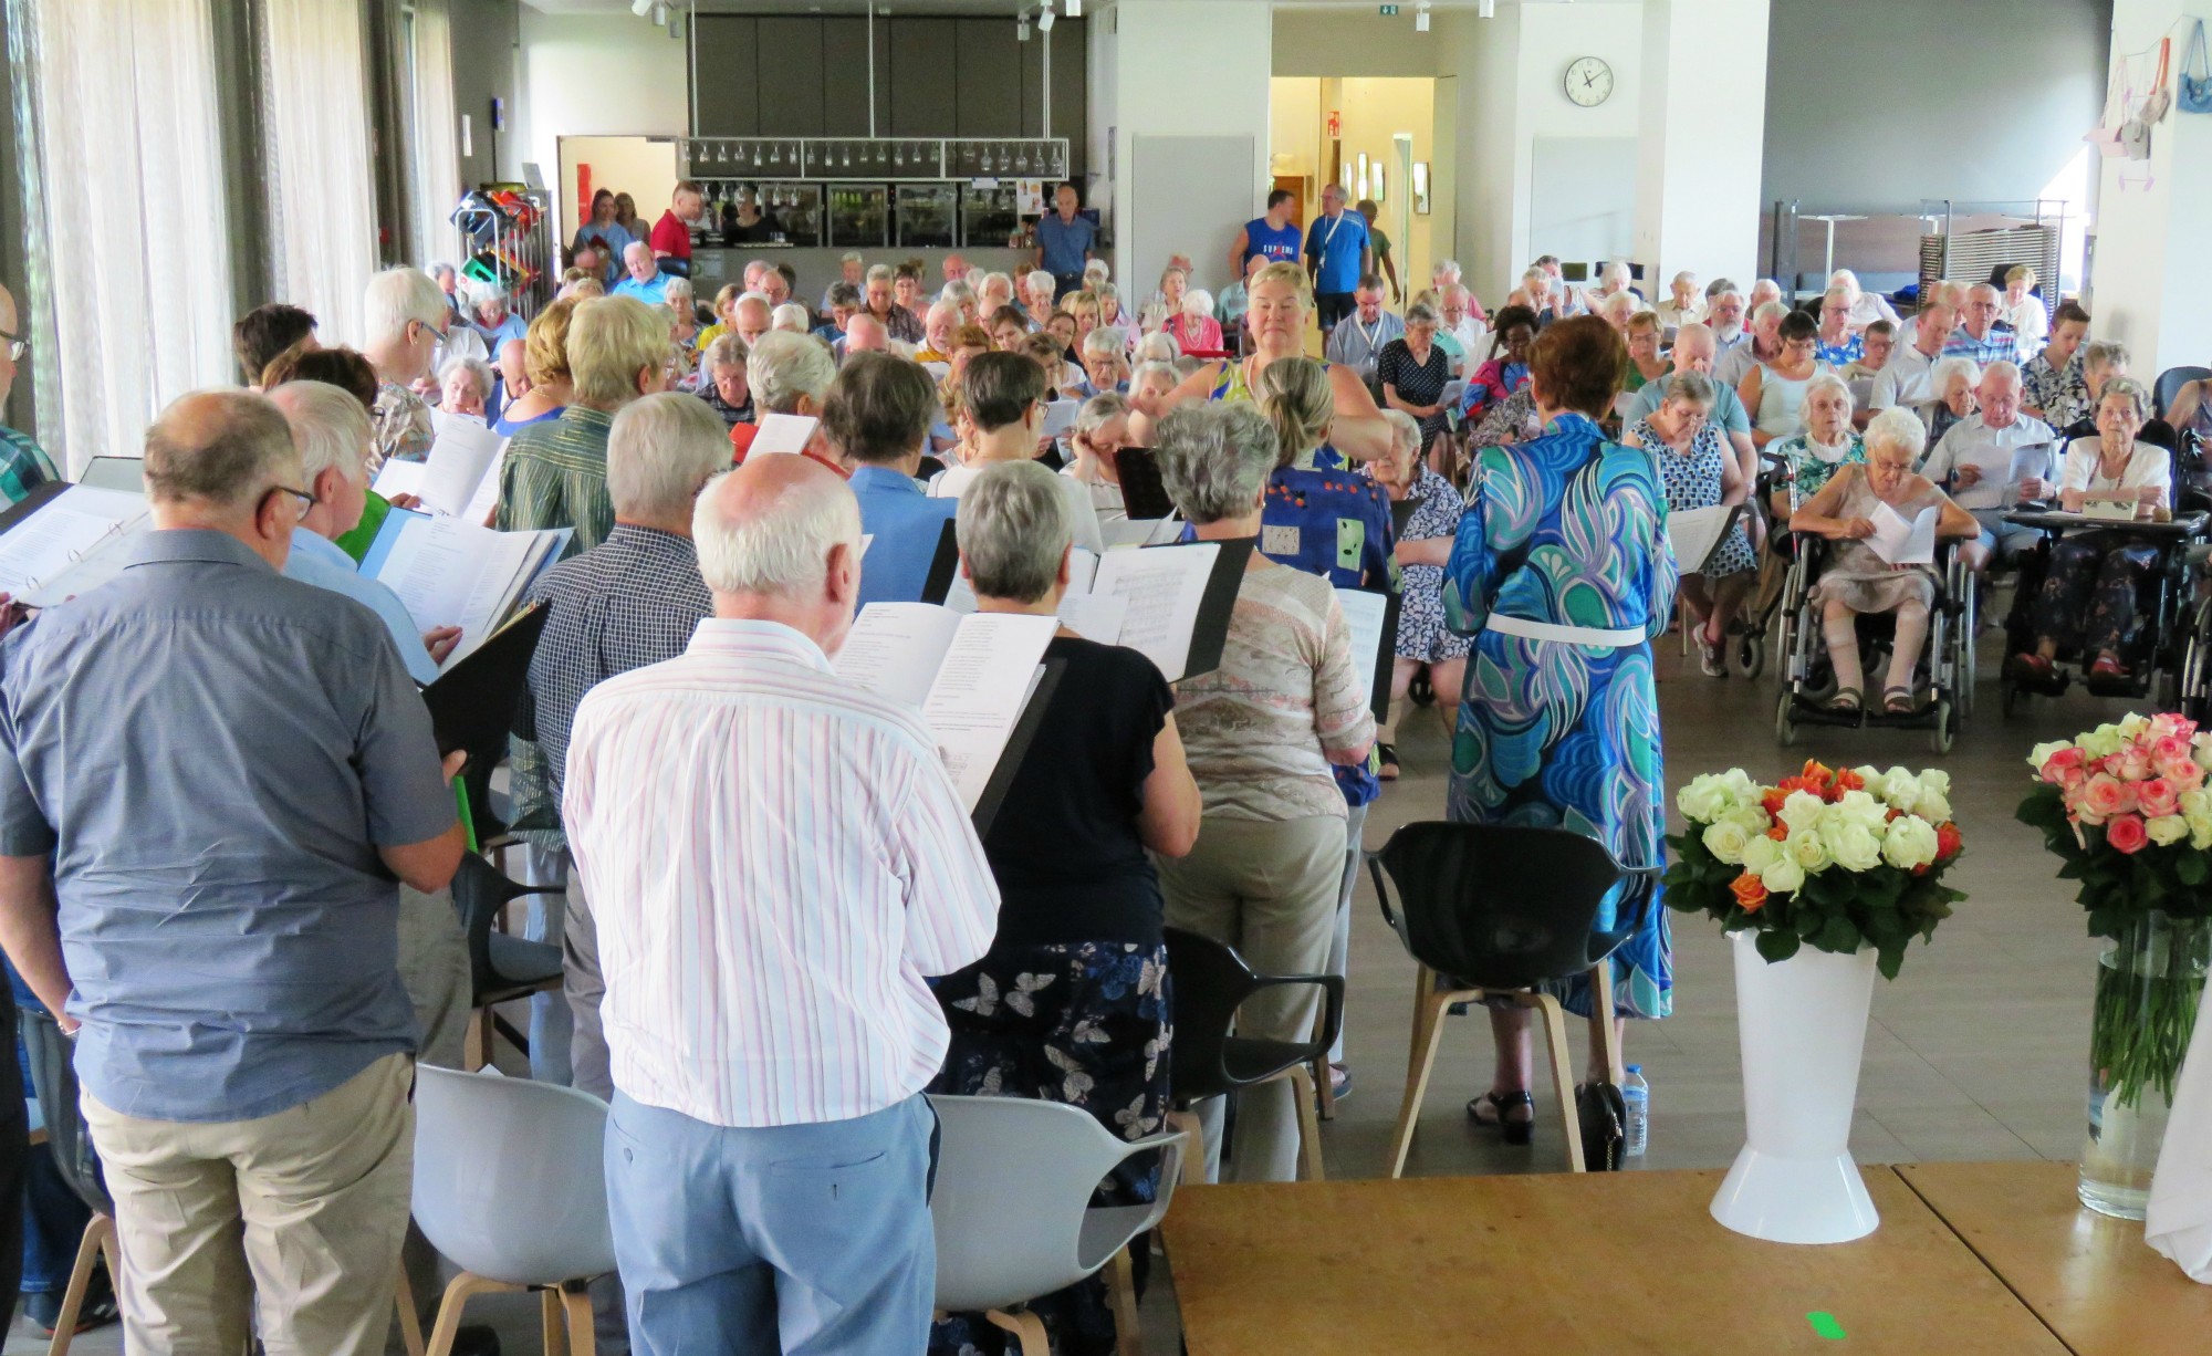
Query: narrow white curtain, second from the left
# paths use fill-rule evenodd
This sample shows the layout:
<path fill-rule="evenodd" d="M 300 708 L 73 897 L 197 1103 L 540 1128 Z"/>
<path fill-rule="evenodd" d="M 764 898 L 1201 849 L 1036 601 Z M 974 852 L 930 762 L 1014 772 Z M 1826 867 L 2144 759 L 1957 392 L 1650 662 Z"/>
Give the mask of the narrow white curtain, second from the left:
<path fill-rule="evenodd" d="M 361 292 L 376 272 L 361 2 L 261 0 L 261 15 L 274 252 L 265 301 L 314 312 L 325 343 L 361 343 Z"/>

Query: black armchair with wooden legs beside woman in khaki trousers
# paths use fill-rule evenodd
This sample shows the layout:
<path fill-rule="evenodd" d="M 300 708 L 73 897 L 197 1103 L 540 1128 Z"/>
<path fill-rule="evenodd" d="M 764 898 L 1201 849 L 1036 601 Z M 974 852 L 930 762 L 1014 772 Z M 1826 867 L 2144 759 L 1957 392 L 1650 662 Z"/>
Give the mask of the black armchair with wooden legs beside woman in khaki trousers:
<path fill-rule="evenodd" d="M 1325 1181 L 1321 1166 L 1321 1119 L 1314 1110 L 1316 1062 L 1329 1057 L 1345 1022 L 1343 976 L 1256 976 L 1234 949 L 1179 927 L 1164 929 L 1168 976 L 1175 980 L 1175 1044 L 1168 1049 L 1168 1088 L 1175 1110 L 1168 1122 L 1190 1130 L 1183 1183 L 1206 1179 L 1206 1144 L 1192 1104 L 1225 1097 L 1287 1077 L 1298 1104 L 1298 1150 L 1310 1181 Z M 1232 1035 L 1237 1009 L 1263 989 L 1312 984 L 1321 989 L 1321 1031 L 1314 1040 L 1263 1040 Z"/>

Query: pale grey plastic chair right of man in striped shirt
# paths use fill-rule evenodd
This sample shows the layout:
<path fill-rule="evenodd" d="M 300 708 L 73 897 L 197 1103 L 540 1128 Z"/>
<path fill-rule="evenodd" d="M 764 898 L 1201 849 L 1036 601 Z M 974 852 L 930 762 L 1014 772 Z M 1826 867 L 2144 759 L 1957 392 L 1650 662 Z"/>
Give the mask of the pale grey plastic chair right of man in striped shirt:
<path fill-rule="evenodd" d="M 1141 1352 L 1128 1241 L 1168 1214 L 1188 1135 L 1119 1139 L 1088 1113 L 1024 1097 L 931 1097 L 942 1137 L 929 1219 L 938 1237 L 938 1310 L 982 1312 L 1046 1356 L 1044 1323 L 1020 1305 L 1066 1290 L 1106 1263 L 1124 1356 Z M 1093 1206 L 1121 1161 L 1159 1152 L 1148 1206 Z"/>

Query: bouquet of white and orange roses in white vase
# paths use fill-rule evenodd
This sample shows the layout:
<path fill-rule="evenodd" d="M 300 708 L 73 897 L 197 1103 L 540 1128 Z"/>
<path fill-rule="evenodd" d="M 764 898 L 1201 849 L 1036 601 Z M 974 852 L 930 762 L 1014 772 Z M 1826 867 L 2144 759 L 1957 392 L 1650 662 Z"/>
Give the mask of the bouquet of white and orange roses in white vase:
<path fill-rule="evenodd" d="M 1871 945 L 1893 980 L 1905 945 L 1966 898 L 1942 883 L 1964 845 L 1949 772 L 1805 763 L 1759 785 L 1730 768 L 1692 779 L 1674 805 L 1688 832 L 1668 838 L 1666 903 L 1756 931 L 1770 962 L 1801 945 L 1843 956 Z"/>

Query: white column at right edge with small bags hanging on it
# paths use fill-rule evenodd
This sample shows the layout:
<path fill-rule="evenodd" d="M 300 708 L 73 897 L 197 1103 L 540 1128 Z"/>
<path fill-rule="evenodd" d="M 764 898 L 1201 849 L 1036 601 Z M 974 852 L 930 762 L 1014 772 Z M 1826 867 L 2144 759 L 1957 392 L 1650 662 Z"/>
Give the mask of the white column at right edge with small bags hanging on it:
<path fill-rule="evenodd" d="M 2112 55 L 2172 35 L 2172 69 L 2188 51 L 2190 20 L 2212 18 L 2212 0 L 2115 0 Z M 2152 64 L 2157 58 L 2152 58 Z M 2093 334 L 2117 338 L 2143 385 L 2166 367 L 2212 358 L 2212 113 L 2179 106 L 2150 128 L 2150 159 L 2104 157 L 2097 168 L 2097 254 L 2090 263 Z"/>

